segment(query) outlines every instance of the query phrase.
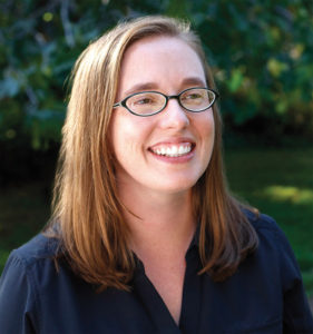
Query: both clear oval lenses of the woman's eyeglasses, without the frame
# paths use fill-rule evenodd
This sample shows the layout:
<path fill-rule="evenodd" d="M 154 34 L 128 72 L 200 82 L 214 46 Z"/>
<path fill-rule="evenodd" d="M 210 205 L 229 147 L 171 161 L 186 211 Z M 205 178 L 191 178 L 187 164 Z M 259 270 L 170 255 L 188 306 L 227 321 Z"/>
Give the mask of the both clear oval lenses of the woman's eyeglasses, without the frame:
<path fill-rule="evenodd" d="M 190 111 L 207 109 L 215 99 L 215 94 L 207 89 L 195 88 L 179 95 L 180 105 Z M 166 106 L 166 97 L 159 92 L 143 91 L 129 97 L 126 106 L 135 114 L 151 115 Z"/>

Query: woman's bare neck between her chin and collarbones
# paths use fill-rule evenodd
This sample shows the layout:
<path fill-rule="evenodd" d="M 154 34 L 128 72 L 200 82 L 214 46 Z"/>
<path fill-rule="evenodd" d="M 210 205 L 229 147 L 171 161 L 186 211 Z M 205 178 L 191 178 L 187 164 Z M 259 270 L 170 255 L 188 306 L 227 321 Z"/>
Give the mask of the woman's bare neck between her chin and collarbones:
<path fill-rule="evenodd" d="M 190 193 L 120 191 L 128 209 L 124 214 L 131 232 L 130 247 L 139 257 L 154 253 L 162 256 L 159 252 L 185 256 L 196 227 Z"/>

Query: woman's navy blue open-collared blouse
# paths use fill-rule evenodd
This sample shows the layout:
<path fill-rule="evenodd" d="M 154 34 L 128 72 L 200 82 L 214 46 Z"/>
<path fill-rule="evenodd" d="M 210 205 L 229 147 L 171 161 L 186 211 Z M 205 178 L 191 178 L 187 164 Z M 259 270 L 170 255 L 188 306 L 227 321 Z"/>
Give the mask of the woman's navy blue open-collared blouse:
<path fill-rule="evenodd" d="M 252 217 L 251 217 L 252 218 Z M 0 333 L 313 333 L 299 266 L 275 222 L 251 223 L 260 246 L 225 282 L 198 275 L 195 237 L 186 254 L 179 325 L 138 264 L 131 292 L 95 286 L 66 263 L 56 271 L 57 242 L 38 235 L 13 250 L 0 281 Z"/>

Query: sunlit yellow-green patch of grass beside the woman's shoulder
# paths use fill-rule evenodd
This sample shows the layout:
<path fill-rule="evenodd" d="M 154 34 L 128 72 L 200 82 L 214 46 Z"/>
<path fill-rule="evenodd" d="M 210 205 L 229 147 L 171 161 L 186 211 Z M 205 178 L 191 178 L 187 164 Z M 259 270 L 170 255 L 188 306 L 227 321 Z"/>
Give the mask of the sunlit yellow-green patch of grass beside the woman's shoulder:
<path fill-rule="evenodd" d="M 313 190 L 292 186 L 273 185 L 257 191 L 257 196 L 267 197 L 275 202 L 288 202 L 292 204 L 313 204 Z"/>

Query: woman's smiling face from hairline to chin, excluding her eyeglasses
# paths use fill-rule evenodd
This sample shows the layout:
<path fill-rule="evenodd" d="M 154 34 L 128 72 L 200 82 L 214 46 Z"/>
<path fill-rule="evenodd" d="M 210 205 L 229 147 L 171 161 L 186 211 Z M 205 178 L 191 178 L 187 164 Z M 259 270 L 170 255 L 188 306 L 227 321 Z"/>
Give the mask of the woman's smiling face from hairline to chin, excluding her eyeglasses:
<path fill-rule="evenodd" d="M 145 38 L 125 53 L 116 101 L 145 90 L 177 95 L 192 87 L 206 87 L 196 52 L 178 38 Z M 175 99 L 149 117 L 118 107 L 113 109 L 110 139 L 121 191 L 188 191 L 211 159 L 213 110 L 189 112 Z"/>

